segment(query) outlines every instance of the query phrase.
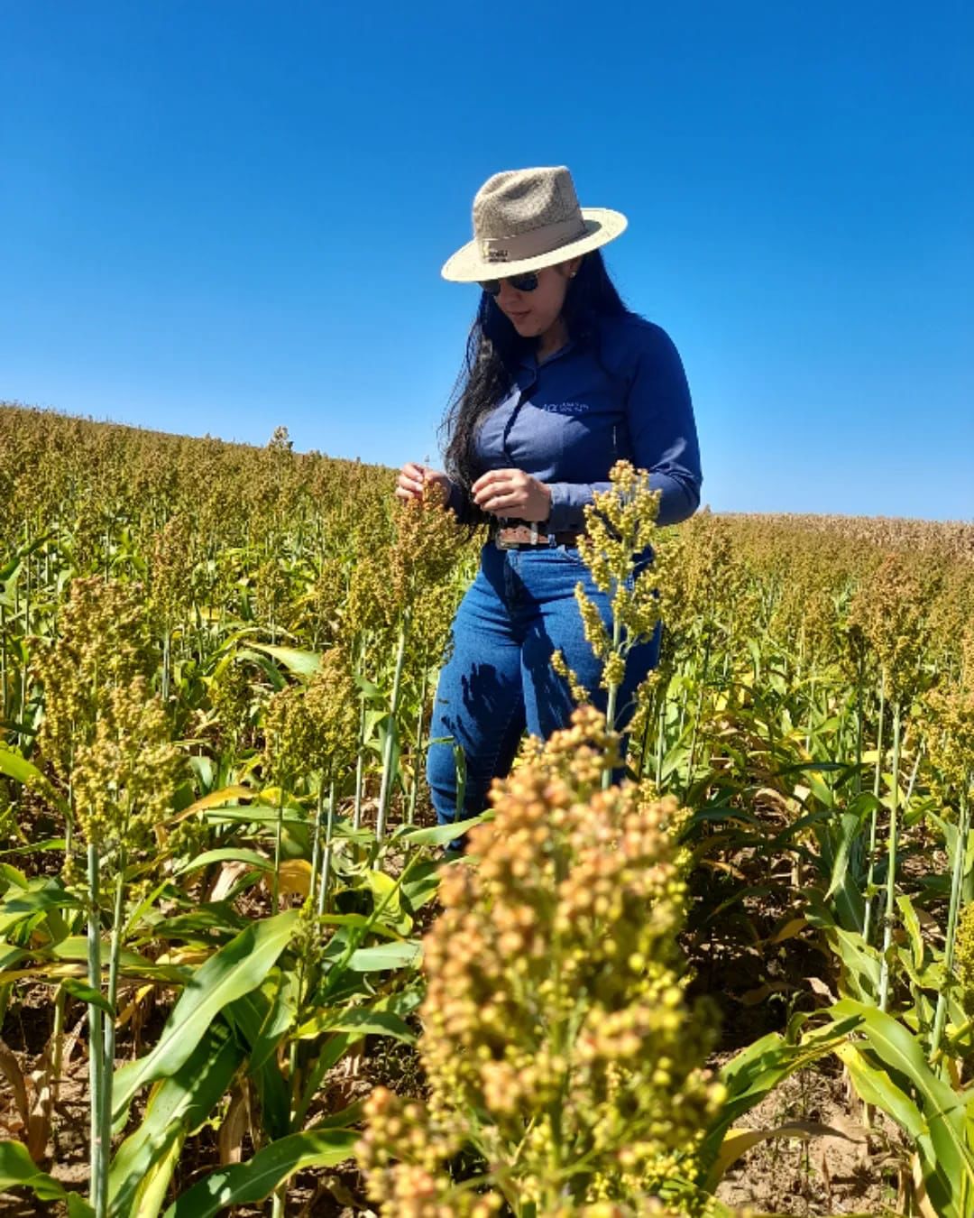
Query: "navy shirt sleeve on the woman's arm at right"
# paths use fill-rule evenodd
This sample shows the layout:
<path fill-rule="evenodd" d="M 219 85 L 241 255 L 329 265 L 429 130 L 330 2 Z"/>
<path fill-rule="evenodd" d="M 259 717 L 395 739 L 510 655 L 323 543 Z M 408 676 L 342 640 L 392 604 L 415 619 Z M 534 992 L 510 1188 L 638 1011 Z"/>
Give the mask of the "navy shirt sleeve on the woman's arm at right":
<path fill-rule="evenodd" d="M 679 353 L 659 325 L 640 335 L 640 347 L 626 397 L 632 460 L 649 470 L 649 485 L 661 491 L 660 525 L 692 516 L 700 505 L 700 448 L 690 390 Z M 610 482 L 549 482 L 553 532 L 584 529 L 584 507 Z"/>

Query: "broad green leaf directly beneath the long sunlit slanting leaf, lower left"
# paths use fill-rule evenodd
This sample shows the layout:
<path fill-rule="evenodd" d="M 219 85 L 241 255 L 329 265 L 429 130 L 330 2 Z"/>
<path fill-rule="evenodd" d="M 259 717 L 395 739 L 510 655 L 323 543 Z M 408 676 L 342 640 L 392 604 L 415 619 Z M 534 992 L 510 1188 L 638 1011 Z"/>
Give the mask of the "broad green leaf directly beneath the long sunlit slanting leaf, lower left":
<path fill-rule="evenodd" d="M 175 1074 L 153 1086 L 141 1124 L 112 1160 L 112 1213 L 156 1218 L 183 1142 L 207 1121 L 239 1065 L 240 1049 L 230 1029 L 215 1019 Z"/>

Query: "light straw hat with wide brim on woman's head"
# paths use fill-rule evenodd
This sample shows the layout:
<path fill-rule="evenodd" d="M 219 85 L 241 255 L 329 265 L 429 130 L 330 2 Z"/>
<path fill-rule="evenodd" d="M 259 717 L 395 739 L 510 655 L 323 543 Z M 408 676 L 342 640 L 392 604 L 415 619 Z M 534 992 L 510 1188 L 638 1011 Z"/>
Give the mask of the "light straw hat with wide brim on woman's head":
<path fill-rule="evenodd" d="M 471 284 L 541 270 L 597 250 L 618 236 L 627 223 L 622 212 L 580 207 L 564 164 L 505 169 L 477 191 L 474 240 L 446 262 L 442 275 Z"/>

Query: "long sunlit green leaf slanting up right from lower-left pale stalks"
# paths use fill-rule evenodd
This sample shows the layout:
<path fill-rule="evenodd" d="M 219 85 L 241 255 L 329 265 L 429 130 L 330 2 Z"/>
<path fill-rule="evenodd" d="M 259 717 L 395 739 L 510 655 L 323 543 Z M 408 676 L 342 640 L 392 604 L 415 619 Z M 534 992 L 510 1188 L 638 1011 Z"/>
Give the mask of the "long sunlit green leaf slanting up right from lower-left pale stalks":
<path fill-rule="evenodd" d="M 155 1047 L 116 1073 L 113 1121 L 124 1116 L 141 1086 L 183 1066 L 228 1002 L 257 989 L 287 946 L 298 916 L 297 910 L 287 910 L 252 923 L 197 968 Z"/>

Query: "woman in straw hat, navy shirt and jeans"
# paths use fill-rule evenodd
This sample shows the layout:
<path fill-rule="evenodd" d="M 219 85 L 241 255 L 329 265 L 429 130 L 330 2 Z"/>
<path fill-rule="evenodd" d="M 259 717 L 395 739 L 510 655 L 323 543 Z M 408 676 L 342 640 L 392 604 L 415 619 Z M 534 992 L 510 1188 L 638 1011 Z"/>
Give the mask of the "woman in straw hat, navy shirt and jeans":
<path fill-rule="evenodd" d="M 581 208 L 565 167 L 498 173 L 474 200 L 474 240 L 443 276 L 480 283 L 465 371 L 444 420 L 448 473 L 405 464 L 396 493 L 438 484 L 457 516 L 486 521 L 477 577 L 453 624 L 431 725 L 427 778 L 441 823 L 458 812 L 453 742 L 466 777 L 461 818 L 486 806 L 524 728 L 548 737 L 572 710 L 550 666 L 560 648 L 593 700 L 600 663 L 582 633 L 581 580 L 610 621 L 609 598 L 578 557 L 583 509 L 620 458 L 650 470 L 660 524 L 700 501 L 700 458 L 679 356 L 664 330 L 631 313 L 599 247 L 626 228 L 620 212 Z M 656 663 L 659 637 L 633 649 L 620 691 L 625 730 L 633 693 Z"/>

